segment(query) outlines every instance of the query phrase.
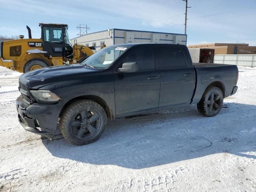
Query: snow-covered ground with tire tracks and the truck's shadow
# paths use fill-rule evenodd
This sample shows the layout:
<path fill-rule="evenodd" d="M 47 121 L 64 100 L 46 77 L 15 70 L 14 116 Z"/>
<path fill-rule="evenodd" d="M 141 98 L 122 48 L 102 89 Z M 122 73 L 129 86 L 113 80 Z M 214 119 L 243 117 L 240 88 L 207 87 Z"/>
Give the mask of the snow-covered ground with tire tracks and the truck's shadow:
<path fill-rule="evenodd" d="M 215 117 L 195 106 L 110 122 L 74 146 L 18 123 L 20 73 L 0 67 L 0 191 L 256 191 L 256 68 Z"/>

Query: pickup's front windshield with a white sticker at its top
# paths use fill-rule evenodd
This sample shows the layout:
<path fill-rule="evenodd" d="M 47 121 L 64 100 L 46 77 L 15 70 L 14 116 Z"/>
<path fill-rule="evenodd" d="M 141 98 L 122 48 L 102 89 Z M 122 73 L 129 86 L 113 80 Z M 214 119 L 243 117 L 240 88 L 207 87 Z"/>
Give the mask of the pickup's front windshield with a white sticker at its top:
<path fill-rule="evenodd" d="M 122 55 L 128 46 L 109 46 L 105 47 L 92 56 L 84 60 L 81 64 L 91 66 L 93 68 L 105 69 L 112 64 L 120 55 Z"/>

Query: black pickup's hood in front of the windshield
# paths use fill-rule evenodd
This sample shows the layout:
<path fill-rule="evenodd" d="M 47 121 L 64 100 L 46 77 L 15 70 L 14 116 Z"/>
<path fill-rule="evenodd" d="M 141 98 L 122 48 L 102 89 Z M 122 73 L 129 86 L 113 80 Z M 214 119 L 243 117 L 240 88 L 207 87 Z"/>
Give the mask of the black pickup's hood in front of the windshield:
<path fill-rule="evenodd" d="M 101 72 L 100 69 L 89 68 L 80 64 L 69 64 L 62 66 L 46 67 L 24 73 L 20 76 L 20 81 L 27 83 L 29 88 L 38 89 L 42 86 L 67 82 L 75 79 L 84 78 L 90 74 Z"/>

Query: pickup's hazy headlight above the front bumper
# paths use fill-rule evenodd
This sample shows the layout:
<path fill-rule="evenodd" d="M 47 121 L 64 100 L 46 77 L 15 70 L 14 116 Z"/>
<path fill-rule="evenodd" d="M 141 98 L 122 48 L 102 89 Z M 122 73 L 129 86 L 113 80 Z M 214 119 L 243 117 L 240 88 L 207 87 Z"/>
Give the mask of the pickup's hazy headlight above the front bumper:
<path fill-rule="evenodd" d="M 48 90 L 37 90 L 30 92 L 38 103 L 53 104 L 57 103 L 60 100 L 60 98 L 56 94 Z"/>

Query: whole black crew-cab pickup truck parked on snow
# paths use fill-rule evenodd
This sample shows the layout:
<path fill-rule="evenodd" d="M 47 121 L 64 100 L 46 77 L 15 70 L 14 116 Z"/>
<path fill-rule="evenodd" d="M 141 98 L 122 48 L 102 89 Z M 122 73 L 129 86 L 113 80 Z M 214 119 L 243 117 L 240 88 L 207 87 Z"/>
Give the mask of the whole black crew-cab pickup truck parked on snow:
<path fill-rule="evenodd" d="M 237 80 L 237 66 L 193 64 L 183 45 L 113 45 L 81 64 L 21 75 L 18 120 L 48 138 L 59 124 L 66 140 L 83 145 L 102 134 L 108 119 L 192 104 L 215 116 Z"/>

